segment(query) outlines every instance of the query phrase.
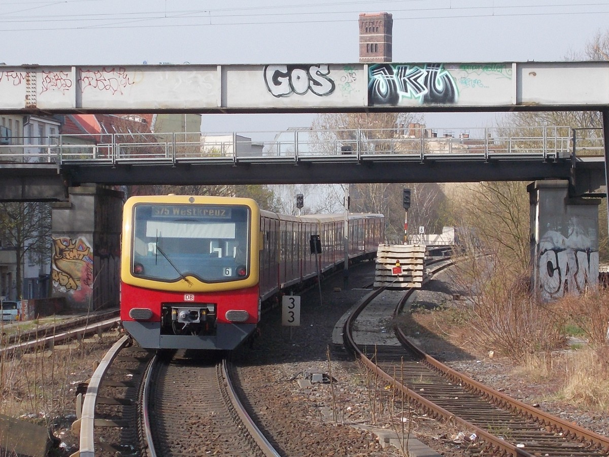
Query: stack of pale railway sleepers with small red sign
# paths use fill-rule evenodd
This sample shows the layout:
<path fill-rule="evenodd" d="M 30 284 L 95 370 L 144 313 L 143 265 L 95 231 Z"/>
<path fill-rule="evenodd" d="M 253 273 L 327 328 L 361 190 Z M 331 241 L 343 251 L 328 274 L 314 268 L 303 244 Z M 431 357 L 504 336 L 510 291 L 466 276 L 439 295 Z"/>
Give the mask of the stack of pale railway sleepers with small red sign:
<path fill-rule="evenodd" d="M 420 288 L 428 279 L 424 244 L 379 244 L 375 287 Z"/>

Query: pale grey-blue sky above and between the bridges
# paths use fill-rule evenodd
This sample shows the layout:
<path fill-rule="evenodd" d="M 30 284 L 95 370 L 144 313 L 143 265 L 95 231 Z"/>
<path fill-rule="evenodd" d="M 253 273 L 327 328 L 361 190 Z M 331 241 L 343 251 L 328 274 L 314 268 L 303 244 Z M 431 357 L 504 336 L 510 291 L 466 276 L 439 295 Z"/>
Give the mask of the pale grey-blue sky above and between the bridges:
<path fill-rule="evenodd" d="M 394 62 L 582 58 L 609 30 L 600 0 L 0 0 L 0 62 L 355 63 L 359 13 L 393 15 Z M 435 129 L 495 113 L 428 113 Z M 314 115 L 205 115 L 203 132 L 308 127 Z"/>

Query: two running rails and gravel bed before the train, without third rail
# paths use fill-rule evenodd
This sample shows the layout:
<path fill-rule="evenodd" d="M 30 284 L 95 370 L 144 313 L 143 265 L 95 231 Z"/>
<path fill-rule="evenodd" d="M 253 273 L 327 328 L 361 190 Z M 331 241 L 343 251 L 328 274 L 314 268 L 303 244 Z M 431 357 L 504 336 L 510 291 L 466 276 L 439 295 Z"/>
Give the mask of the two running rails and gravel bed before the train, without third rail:
<path fill-rule="evenodd" d="M 150 370 L 147 455 L 277 456 L 236 397 L 227 361 L 180 353 Z"/>

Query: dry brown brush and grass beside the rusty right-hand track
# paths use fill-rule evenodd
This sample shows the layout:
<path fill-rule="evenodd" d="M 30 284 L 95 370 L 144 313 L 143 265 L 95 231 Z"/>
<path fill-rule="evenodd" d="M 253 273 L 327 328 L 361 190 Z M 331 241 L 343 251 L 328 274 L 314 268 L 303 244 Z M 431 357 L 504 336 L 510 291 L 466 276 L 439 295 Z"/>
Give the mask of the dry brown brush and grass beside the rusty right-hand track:
<path fill-rule="evenodd" d="M 451 285 L 464 300 L 413 313 L 410 335 L 420 338 L 432 352 L 436 338 L 445 338 L 452 347 L 476 357 L 493 351 L 510 361 L 506 372 L 511 377 L 537 386 L 542 398 L 606 413 L 607 289 L 541 303 L 532 298 L 526 280 L 513 279 L 527 278 L 527 272 L 517 275 L 495 260 L 480 258 L 461 264 L 455 276 L 466 278 Z"/>

